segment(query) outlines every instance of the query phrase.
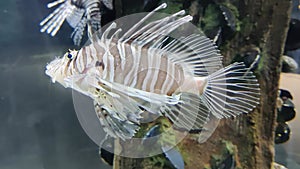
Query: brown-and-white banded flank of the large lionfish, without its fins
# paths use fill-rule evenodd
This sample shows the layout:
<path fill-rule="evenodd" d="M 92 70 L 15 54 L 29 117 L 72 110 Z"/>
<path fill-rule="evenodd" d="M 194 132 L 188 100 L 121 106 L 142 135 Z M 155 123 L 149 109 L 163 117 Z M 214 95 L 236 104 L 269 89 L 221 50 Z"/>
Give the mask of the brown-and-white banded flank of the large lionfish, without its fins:
<path fill-rule="evenodd" d="M 137 45 L 124 44 L 125 57 L 118 50 L 116 42 L 110 42 L 110 54 L 104 56 L 105 49 L 100 41 L 82 48 L 77 60 L 71 61 L 78 73 L 86 71 L 88 65 L 95 66 L 96 74 L 109 82 L 115 82 L 146 92 L 172 95 L 187 81 L 180 64 L 168 59 L 167 51 L 141 48 Z M 151 50 L 151 57 L 147 56 Z M 75 63 L 76 62 L 76 63 Z M 70 69 L 70 72 L 74 70 Z"/>

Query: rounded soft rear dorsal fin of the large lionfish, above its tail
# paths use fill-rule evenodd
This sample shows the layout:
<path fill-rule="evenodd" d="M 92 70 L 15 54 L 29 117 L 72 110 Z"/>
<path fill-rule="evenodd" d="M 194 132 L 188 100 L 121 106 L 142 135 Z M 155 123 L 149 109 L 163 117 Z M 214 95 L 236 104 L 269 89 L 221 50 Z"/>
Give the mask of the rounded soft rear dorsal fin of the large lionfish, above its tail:
<path fill-rule="evenodd" d="M 222 68 L 222 56 L 214 43 L 205 36 L 192 34 L 174 39 L 163 50 L 175 53 L 169 58 L 175 63 L 185 64 L 195 76 L 208 76 Z"/>

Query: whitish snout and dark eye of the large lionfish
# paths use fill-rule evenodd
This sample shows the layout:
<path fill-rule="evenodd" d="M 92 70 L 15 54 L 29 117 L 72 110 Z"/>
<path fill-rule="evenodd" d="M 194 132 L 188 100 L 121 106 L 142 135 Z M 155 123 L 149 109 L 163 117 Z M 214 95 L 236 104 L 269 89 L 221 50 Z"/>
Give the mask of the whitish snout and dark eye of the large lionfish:
<path fill-rule="evenodd" d="M 69 50 L 66 52 L 62 57 L 58 57 L 51 61 L 46 66 L 46 75 L 50 76 L 52 82 L 58 82 L 64 87 L 67 85 L 65 84 L 65 78 L 71 76 L 72 64 L 71 62 L 77 57 L 78 51 L 76 50 Z"/>

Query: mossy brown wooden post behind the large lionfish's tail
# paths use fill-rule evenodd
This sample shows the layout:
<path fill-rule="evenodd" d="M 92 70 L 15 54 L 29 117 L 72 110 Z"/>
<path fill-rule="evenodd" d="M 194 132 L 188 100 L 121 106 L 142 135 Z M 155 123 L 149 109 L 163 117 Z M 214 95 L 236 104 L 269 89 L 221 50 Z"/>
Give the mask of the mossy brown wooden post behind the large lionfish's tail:
<path fill-rule="evenodd" d="M 198 7 L 200 0 L 174 0 L 173 5 L 175 3 L 179 8 L 186 8 L 195 16 L 193 22 L 201 25 L 203 9 Z M 254 49 L 260 53 L 260 61 L 254 73 L 260 83 L 261 101 L 247 115 L 221 120 L 217 130 L 205 143 L 199 144 L 192 136 L 188 136 L 178 148 L 187 169 L 218 168 L 228 156 L 232 156 L 236 168 L 272 168 L 278 80 L 291 1 L 216 0 L 215 3 L 227 5 L 238 12 L 235 14 L 239 29 L 232 37 L 225 39 L 220 47 L 224 64 L 228 65 L 234 59 L 243 59 L 243 53 Z M 114 162 L 115 169 L 155 168 L 151 158 L 129 159 L 115 156 Z"/>

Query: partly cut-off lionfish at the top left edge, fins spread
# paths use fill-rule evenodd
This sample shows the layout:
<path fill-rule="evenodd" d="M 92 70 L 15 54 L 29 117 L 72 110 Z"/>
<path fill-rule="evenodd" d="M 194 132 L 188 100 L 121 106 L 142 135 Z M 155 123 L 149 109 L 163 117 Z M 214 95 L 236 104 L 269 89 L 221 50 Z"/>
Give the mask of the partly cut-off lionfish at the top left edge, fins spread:
<path fill-rule="evenodd" d="M 101 28 L 101 2 L 110 10 L 112 0 L 56 0 L 48 8 L 59 5 L 50 15 L 40 22 L 41 32 L 55 36 L 65 20 L 74 29 L 71 37 L 75 45 L 80 45 L 83 33 L 88 25 L 88 35 Z"/>

